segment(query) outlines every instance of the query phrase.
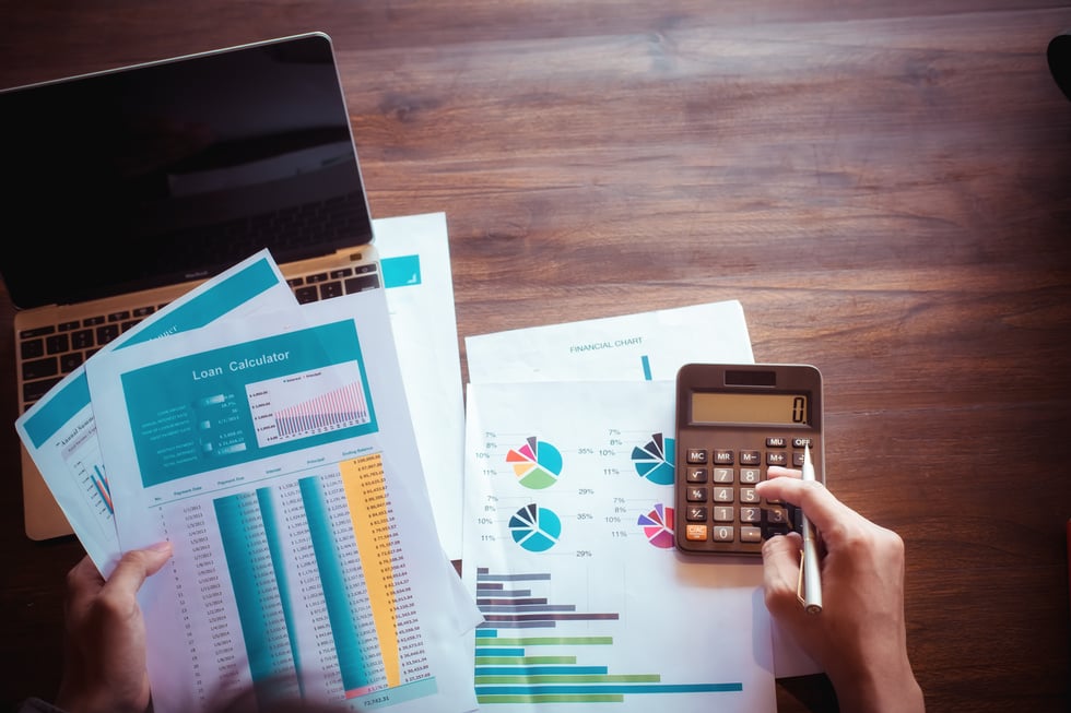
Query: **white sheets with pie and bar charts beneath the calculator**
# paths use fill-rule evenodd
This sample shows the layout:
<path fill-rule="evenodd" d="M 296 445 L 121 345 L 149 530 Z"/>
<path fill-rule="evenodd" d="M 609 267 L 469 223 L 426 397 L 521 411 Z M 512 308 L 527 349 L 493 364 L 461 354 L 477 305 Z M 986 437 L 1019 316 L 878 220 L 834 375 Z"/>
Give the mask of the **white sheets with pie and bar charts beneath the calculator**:
<path fill-rule="evenodd" d="M 776 710 L 780 658 L 796 662 L 776 643 L 761 563 L 690 558 L 673 538 L 676 371 L 753 361 L 740 304 L 466 348 L 462 559 L 486 619 L 481 710 Z"/>

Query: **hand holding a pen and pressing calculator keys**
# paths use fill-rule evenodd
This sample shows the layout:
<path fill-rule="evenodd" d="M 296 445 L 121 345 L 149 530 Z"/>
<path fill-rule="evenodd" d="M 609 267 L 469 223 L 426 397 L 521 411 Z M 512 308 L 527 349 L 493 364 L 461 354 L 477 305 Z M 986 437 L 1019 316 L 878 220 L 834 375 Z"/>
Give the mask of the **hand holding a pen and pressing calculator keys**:
<path fill-rule="evenodd" d="M 822 554 L 820 614 L 797 598 L 802 542 L 797 533 L 763 544 L 766 608 L 819 662 L 843 711 L 922 711 L 922 691 L 907 657 L 904 540 L 845 506 L 799 471 L 772 466 L 757 485 L 765 500 L 799 506 Z"/>

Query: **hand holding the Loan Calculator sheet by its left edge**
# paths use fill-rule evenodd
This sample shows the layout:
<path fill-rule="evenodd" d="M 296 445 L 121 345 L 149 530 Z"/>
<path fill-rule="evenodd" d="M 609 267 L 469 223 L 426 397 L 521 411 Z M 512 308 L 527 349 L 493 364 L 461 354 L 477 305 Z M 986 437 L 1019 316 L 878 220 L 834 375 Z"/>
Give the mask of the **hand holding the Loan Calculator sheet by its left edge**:
<path fill-rule="evenodd" d="M 170 543 L 126 552 L 107 581 L 85 557 L 67 575 L 63 678 L 56 705 L 69 713 L 149 708 L 145 621 L 137 594 L 172 556 Z"/>

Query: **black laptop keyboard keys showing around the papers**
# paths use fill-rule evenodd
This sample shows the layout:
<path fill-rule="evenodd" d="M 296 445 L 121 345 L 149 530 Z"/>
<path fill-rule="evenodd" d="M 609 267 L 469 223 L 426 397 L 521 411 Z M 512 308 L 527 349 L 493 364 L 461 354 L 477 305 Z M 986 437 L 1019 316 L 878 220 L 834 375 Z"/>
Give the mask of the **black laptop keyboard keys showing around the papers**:
<path fill-rule="evenodd" d="M 374 264 L 311 273 L 286 282 L 302 305 L 381 286 Z M 20 332 L 19 368 L 24 408 L 32 406 L 101 347 L 162 307 L 164 305 L 139 307 Z"/>

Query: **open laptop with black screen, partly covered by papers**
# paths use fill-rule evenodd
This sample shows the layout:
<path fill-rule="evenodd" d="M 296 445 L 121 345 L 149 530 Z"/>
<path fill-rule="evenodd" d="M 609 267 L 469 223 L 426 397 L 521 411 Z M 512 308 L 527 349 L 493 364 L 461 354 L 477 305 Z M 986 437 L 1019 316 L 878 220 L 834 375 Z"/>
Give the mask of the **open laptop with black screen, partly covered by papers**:
<path fill-rule="evenodd" d="M 295 35 L 0 92 L 19 413 L 268 248 L 302 302 L 381 286 L 330 38 Z M 22 449 L 26 534 L 70 534 Z"/>

